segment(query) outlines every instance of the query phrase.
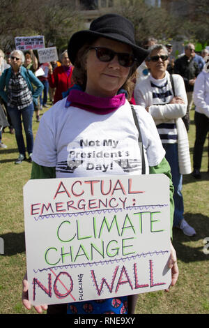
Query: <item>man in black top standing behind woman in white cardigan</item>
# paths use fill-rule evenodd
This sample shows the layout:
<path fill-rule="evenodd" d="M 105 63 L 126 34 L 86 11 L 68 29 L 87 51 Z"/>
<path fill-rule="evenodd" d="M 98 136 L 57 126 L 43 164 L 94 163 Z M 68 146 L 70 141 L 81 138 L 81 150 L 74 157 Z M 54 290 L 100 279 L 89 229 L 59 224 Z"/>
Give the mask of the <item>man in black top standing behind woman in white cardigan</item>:
<path fill-rule="evenodd" d="M 174 65 L 174 73 L 179 74 L 183 77 L 185 82 L 185 89 L 187 91 L 187 113 L 185 117 L 183 117 L 183 121 L 185 123 L 185 127 L 187 131 L 189 131 L 189 112 L 193 105 L 193 90 L 194 90 L 194 82 L 196 80 L 197 75 L 200 73 L 200 69 L 196 61 L 194 60 L 195 56 L 195 48 L 192 43 L 185 45 L 185 55 L 176 59 Z"/>

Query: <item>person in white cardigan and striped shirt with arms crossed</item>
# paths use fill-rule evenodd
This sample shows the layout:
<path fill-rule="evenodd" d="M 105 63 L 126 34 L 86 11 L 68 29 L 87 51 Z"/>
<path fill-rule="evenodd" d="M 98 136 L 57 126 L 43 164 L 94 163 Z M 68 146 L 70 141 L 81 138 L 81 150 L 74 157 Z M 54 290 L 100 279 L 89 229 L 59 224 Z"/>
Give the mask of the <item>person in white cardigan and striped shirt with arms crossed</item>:
<path fill-rule="evenodd" d="M 168 51 L 164 45 L 153 45 L 149 50 L 146 66 L 150 74 L 136 85 L 134 99 L 152 115 L 171 166 L 175 204 L 173 226 L 192 237 L 196 232 L 183 218 L 181 193 L 183 174 L 192 172 L 187 131 L 181 119 L 187 111 L 185 85 L 180 75 L 170 75 L 167 71 Z"/>

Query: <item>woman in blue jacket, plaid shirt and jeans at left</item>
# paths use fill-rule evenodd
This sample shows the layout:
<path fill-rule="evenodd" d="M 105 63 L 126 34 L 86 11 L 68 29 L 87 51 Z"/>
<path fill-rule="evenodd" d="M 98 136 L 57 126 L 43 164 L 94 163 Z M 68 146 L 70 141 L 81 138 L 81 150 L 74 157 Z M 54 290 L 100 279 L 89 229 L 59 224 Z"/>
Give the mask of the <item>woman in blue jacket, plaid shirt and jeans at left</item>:
<path fill-rule="evenodd" d="M 24 66 L 24 54 L 20 50 L 11 52 L 11 67 L 4 70 L 0 78 L 0 96 L 7 103 L 8 113 L 15 128 L 19 157 L 15 164 L 26 159 L 26 148 L 31 162 L 33 152 L 33 102 L 38 103 L 43 85 L 38 78 Z M 33 89 L 36 87 L 36 90 Z M 22 134 L 22 121 L 26 134 L 26 147 Z"/>

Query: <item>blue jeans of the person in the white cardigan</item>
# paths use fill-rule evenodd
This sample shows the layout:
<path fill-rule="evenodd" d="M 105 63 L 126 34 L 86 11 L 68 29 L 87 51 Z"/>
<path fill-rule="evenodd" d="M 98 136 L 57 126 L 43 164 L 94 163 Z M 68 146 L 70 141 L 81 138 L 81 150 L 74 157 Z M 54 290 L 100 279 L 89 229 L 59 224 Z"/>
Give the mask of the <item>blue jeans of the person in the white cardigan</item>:
<path fill-rule="evenodd" d="M 182 191 L 183 176 L 179 172 L 178 165 L 178 144 L 162 144 L 166 155 L 165 158 L 171 167 L 172 181 L 174 186 L 173 200 L 174 200 L 174 217 L 173 226 L 179 227 L 180 222 L 183 220 L 184 202 Z"/>

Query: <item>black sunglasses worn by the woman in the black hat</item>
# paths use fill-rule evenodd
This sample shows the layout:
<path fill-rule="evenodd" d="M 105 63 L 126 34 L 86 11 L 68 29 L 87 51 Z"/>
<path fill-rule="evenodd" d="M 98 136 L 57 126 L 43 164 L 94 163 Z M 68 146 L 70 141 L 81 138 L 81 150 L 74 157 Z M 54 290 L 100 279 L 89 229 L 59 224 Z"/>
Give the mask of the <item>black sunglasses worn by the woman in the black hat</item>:
<path fill-rule="evenodd" d="M 105 63 L 114 59 L 116 55 L 118 56 L 118 63 L 123 67 L 131 67 L 134 65 L 134 61 L 137 60 L 134 58 L 133 54 L 114 52 L 113 50 L 104 47 L 90 47 L 89 49 L 94 49 L 98 59 Z"/>

